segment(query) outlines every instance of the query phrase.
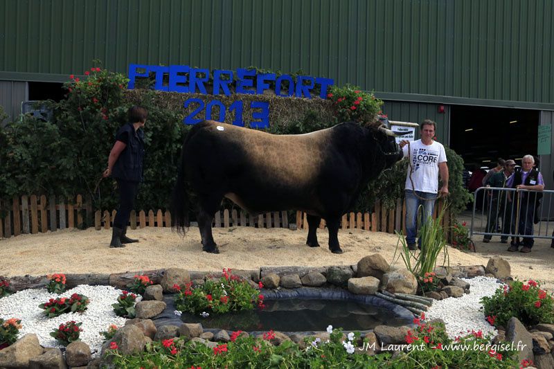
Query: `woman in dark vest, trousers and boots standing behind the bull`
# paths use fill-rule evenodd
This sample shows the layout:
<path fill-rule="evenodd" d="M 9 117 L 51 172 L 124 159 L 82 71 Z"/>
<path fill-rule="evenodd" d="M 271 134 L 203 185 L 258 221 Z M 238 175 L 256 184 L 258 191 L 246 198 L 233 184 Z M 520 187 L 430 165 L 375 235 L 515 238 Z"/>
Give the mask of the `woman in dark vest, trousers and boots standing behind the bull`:
<path fill-rule="evenodd" d="M 119 187 L 119 210 L 114 219 L 110 247 L 125 247 L 124 244 L 139 242 L 127 237 L 127 223 L 134 208 L 134 199 L 143 179 L 144 132 L 148 111 L 139 106 L 127 111 L 129 122 L 116 134 L 116 143 L 111 148 L 108 168 L 102 177 L 113 177 Z"/>

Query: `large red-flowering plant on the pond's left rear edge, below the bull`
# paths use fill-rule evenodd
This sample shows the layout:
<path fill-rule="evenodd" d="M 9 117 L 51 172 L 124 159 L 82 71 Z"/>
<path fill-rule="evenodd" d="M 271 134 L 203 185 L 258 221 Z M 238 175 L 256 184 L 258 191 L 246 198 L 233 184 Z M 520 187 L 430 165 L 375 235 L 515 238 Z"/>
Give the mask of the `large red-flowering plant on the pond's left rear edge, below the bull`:
<path fill-rule="evenodd" d="M 238 310 L 265 307 L 264 296 L 249 282 L 223 269 L 220 278 L 208 278 L 204 285 L 188 283 L 175 297 L 175 307 L 181 312 L 208 316 L 210 312 L 224 314 Z M 202 314 L 204 313 L 204 314 Z"/>

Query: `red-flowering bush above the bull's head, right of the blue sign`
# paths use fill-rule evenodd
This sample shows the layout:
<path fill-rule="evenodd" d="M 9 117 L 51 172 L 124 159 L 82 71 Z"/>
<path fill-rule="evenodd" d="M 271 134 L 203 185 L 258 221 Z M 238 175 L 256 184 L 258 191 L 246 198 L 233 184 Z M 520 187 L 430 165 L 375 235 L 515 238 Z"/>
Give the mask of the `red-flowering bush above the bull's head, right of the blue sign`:
<path fill-rule="evenodd" d="M 383 105 L 383 101 L 375 98 L 373 93 L 361 91 L 351 84 L 332 86 L 327 98 L 333 102 L 334 115 L 339 122 L 373 123 Z"/>

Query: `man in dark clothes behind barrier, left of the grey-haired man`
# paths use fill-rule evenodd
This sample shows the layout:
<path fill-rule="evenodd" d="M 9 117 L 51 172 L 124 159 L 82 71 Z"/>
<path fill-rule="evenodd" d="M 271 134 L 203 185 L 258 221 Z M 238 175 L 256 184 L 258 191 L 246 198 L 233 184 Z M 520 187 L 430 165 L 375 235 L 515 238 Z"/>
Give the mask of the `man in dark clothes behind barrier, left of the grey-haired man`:
<path fill-rule="evenodd" d="M 514 172 L 515 161 L 507 160 L 504 163 L 503 170 L 492 174 L 488 177 L 485 185 L 493 188 L 506 187 L 506 181 Z M 501 190 L 492 190 L 490 198 L 488 199 L 489 206 L 487 211 L 487 227 L 485 228 L 487 233 L 495 233 L 497 231 L 497 225 L 499 224 L 499 218 L 502 218 L 502 233 L 510 233 L 510 224 L 512 223 L 511 209 L 508 208 L 506 201 L 506 192 Z M 511 204 L 511 202 L 510 202 Z M 490 242 L 491 235 L 485 235 L 483 242 Z M 506 244 L 508 242 L 508 236 L 501 236 L 500 242 Z"/>

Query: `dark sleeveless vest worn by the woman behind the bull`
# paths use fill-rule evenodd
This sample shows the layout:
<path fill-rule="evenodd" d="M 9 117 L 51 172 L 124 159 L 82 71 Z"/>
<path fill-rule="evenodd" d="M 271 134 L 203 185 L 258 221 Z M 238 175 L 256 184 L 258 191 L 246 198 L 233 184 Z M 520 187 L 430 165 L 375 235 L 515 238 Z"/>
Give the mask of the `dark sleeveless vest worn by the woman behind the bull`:
<path fill-rule="evenodd" d="M 144 132 L 142 129 L 134 130 L 132 123 L 121 127 L 116 137 L 127 136 L 127 146 L 119 154 L 119 157 L 111 170 L 111 177 L 125 181 L 141 182 L 143 180 L 144 159 Z"/>

